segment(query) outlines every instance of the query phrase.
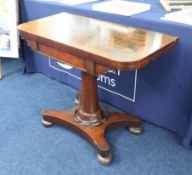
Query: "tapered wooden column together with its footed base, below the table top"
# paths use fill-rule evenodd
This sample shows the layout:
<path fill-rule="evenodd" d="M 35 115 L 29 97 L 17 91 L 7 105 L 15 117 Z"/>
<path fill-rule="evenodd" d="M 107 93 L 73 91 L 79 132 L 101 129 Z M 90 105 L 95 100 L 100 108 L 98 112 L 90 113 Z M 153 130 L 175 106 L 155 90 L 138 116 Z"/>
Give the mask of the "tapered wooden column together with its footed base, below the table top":
<path fill-rule="evenodd" d="M 43 124 L 60 124 L 73 129 L 89 140 L 98 151 L 102 164 L 112 161 L 110 146 L 105 139 L 108 129 L 128 127 L 140 131 L 141 120 L 123 113 L 106 113 L 98 105 L 96 76 L 82 73 L 80 100 L 74 109 L 66 111 L 43 111 Z M 104 115 L 105 114 L 105 115 Z"/>

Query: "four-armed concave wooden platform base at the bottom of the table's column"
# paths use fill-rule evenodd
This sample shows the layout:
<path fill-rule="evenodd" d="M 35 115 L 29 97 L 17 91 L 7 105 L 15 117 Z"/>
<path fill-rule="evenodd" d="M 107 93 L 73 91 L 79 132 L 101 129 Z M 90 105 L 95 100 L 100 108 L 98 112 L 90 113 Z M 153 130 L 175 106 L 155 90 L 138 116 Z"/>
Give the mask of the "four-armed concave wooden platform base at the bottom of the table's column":
<path fill-rule="evenodd" d="M 43 122 L 60 124 L 80 133 L 95 146 L 98 151 L 98 160 L 102 164 L 109 164 L 112 161 L 110 146 L 105 139 L 105 133 L 108 129 L 119 127 L 141 128 L 141 120 L 138 117 L 123 113 L 110 114 L 106 120 L 103 120 L 101 124 L 97 126 L 86 126 L 76 119 L 76 110 L 77 109 L 66 111 L 45 110 L 42 113 Z"/>

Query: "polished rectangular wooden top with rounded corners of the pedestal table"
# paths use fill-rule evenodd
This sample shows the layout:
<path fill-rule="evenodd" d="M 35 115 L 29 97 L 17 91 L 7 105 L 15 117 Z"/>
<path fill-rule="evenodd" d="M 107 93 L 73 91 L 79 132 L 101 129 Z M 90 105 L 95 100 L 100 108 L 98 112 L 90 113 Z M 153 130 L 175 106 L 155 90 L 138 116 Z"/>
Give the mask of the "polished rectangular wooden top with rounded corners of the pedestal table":
<path fill-rule="evenodd" d="M 20 35 L 69 54 L 117 69 L 136 69 L 174 47 L 167 34 L 60 13 L 21 24 Z"/>

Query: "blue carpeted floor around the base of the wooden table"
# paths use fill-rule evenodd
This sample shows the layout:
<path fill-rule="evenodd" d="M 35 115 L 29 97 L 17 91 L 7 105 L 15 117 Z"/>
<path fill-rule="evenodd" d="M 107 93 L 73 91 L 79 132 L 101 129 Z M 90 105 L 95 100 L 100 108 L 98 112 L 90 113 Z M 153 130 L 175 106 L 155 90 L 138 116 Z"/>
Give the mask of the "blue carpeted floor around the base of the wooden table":
<path fill-rule="evenodd" d="M 164 129 L 144 123 L 135 136 L 107 134 L 114 161 L 100 165 L 79 135 L 41 125 L 42 109 L 73 106 L 76 91 L 42 74 L 23 74 L 21 60 L 3 59 L 0 81 L 0 175 L 190 175 L 192 150 Z"/>

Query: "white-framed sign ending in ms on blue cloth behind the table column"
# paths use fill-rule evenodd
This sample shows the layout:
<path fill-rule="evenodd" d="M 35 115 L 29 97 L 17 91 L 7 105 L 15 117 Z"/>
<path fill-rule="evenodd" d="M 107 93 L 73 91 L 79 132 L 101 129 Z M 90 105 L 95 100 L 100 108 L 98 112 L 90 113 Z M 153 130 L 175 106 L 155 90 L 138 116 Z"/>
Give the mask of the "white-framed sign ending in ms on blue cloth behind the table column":
<path fill-rule="evenodd" d="M 49 59 L 49 67 L 63 72 L 65 76 L 67 76 L 65 83 L 75 88 L 80 88 L 81 81 L 79 80 L 81 80 L 81 73 L 79 70 L 52 59 Z M 113 94 L 114 96 L 119 96 L 119 98 L 135 102 L 137 70 L 131 72 L 108 70 L 106 74 L 99 75 L 97 81 L 99 94 L 101 94 L 102 97 L 105 98 L 109 96 L 109 94 Z"/>

